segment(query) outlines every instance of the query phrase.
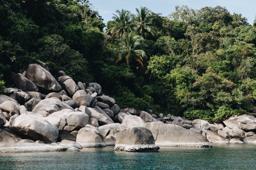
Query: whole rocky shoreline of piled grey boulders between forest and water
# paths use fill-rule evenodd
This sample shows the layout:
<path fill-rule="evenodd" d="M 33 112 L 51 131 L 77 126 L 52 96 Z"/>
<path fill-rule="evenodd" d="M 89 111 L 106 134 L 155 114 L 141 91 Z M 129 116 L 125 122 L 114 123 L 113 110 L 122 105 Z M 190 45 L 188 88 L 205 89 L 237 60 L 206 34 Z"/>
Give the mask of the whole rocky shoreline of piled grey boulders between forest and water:
<path fill-rule="evenodd" d="M 116 151 L 157 152 L 159 146 L 256 142 L 253 116 L 210 124 L 155 115 L 150 109 L 120 109 L 112 97 L 102 94 L 99 84 L 75 83 L 63 71 L 56 80 L 38 64 L 30 64 L 23 74 L 13 73 L 12 78 L 16 88 L 0 94 L 0 153 L 79 151 L 108 145 L 115 145 Z"/>

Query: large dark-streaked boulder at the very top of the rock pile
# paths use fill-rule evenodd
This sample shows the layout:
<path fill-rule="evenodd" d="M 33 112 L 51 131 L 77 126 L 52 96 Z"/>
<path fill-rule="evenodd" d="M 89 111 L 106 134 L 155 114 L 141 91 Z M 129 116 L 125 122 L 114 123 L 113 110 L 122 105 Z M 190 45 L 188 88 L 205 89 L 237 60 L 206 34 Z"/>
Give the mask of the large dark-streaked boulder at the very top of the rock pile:
<path fill-rule="evenodd" d="M 44 91 L 61 90 L 61 85 L 59 85 L 53 75 L 38 64 L 30 64 L 25 77 Z"/>

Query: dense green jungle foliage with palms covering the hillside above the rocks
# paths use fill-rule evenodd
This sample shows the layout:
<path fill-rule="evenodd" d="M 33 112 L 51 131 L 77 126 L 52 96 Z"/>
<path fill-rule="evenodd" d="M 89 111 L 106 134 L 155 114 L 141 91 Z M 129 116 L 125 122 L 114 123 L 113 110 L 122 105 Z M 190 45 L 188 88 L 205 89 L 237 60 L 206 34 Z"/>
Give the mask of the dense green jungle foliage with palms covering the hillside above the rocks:
<path fill-rule="evenodd" d="M 255 105 L 256 24 L 219 6 L 116 12 L 104 25 L 85 0 L 2 0 L 0 91 L 43 61 L 56 77 L 101 84 L 121 108 L 220 121 Z"/>

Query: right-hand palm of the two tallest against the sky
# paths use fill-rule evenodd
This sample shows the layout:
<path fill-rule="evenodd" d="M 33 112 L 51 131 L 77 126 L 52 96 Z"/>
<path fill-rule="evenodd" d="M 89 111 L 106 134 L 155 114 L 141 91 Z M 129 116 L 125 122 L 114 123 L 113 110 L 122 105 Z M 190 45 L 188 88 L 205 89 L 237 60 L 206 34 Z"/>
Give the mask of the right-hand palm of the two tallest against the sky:
<path fill-rule="evenodd" d="M 138 22 L 136 29 L 138 33 L 141 36 L 144 36 L 146 32 L 151 33 L 152 35 L 155 35 L 156 26 L 152 23 L 153 17 L 151 17 L 150 15 L 151 11 L 146 7 L 141 7 L 140 10 L 136 8 L 136 11 L 137 11 L 136 20 Z"/>

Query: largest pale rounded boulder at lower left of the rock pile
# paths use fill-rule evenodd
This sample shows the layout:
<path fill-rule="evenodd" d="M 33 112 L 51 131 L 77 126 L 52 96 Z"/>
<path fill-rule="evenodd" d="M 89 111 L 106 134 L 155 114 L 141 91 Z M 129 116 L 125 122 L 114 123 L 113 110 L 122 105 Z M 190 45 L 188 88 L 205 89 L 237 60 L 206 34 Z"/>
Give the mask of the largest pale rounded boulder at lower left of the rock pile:
<path fill-rule="evenodd" d="M 21 114 L 11 125 L 11 131 L 16 134 L 32 139 L 41 140 L 45 143 L 57 142 L 59 130 L 50 124 L 45 118 L 31 114 Z"/>

